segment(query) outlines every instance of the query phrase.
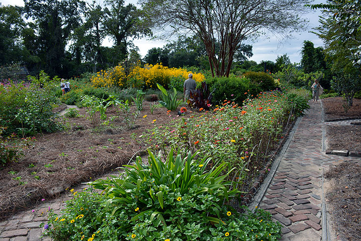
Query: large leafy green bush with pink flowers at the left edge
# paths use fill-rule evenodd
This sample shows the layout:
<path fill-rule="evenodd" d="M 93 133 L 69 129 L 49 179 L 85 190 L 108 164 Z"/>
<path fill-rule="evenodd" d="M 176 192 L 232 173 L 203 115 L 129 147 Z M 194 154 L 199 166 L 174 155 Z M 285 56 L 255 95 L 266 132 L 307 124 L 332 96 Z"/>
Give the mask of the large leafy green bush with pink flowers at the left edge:
<path fill-rule="evenodd" d="M 25 136 L 59 130 L 59 124 L 54 121 L 56 114 L 52 112 L 57 100 L 51 89 L 50 83 L 42 88 L 37 83 L 26 82 L 0 85 L 0 126 L 6 127 L 5 134 Z"/>

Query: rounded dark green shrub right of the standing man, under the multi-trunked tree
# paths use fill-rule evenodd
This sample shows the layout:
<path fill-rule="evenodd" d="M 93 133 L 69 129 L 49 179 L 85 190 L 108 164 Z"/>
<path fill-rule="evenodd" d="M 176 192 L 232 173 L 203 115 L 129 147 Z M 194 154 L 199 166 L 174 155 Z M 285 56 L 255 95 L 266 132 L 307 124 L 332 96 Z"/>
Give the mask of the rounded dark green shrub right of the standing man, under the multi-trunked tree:
<path fill-rule="evenodd" d="M 215 90 L 212 97 L 213 103 L 223 102 L 225 99 L 234 100 L 235 103 L 242 103 L 247 99 L 245 93 L 250 89 L 249 80 L 246 78 L 208 78 L 206 83 L 210 91 Z M 254 93 L 257 94 L 259 89 L 256 86 L 253 86 L 253 88 Z"/>

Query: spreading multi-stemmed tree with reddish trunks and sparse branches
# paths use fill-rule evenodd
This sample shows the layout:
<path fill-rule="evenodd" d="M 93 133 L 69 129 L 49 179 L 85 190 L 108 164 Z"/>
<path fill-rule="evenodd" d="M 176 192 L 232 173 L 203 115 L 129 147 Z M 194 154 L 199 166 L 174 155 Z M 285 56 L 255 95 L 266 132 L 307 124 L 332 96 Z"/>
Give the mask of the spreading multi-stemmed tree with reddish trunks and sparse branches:
<path fill-rule="evenodd" d="M 234 54 L 246 38 L 266 30 L 284 37 L 303 30 L 299 17 L 309 0 L 141 0 L 158 27 L 192 31 L 206 46 L 212 75 L 229 76 Z M 220 44 L 216 51 L 216 43 Z"/>

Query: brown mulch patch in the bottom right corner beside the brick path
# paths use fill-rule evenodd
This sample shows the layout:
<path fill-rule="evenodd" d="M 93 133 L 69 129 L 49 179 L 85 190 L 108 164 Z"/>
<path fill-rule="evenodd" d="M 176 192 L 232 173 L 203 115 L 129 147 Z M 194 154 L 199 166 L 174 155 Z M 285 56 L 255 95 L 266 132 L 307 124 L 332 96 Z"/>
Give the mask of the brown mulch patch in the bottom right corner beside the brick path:
<path fill-rule="evenodd" d="M 346 161 L 326 173 L 331 188 L 326 201 L 331 204 L 337 240 L 361 240 L 361 166 Z"/>

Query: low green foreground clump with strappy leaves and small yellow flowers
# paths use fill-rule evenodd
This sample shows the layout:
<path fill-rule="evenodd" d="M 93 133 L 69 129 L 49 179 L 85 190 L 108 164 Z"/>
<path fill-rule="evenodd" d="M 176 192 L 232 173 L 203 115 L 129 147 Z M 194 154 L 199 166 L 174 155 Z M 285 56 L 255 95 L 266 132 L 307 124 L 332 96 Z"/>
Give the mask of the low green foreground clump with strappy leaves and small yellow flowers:
<path fill-rule="evenodd" d="M 47 233 L 55 240 L 277 240 L 280 223 L 256 210 L 239 214 L 227 205 L 238 191 L 229 189 L 226 163 L 209 167 L 210 158 L 170 150 L 162 161 L 149 152 L 124 166 L 124 175 L 98 180 L 74 193 L 63 214 L 51 211 Z M 73 190 L 70 190 L 73 191 Z M 226 204 L 225 204 L 226 202 Z M 246 207 L 243 207 L 247 210 Z M 248 210 L 249 211 L 249 210 Z"/>

